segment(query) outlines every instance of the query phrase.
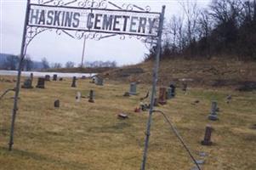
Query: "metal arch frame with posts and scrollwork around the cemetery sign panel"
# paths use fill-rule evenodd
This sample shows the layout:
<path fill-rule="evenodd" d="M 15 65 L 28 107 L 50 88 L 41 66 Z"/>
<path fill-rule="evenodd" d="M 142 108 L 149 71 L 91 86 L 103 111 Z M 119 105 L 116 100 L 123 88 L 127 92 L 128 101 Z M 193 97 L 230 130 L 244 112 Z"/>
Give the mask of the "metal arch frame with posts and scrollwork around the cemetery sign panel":
<path fill-rule="evenodd" d="M 35 1 L 35 0 L 32 0 Z M 148 14 L 160 14 L 160 20 L 159 20 L 159 27 L 157 31 L 156 37 L 149 37 L 149 36 L 137 36 L 137 39 L 141 40 L 142 42 L 145 42 L 145 44 L 150 44 L 152 46 L 156 46 L 156 61 L 153 71 L 153 83 L 152 83 L 152 92 L 151 92 L 151 107 L 149 111 L 149 118 L 146 125 L 146 132 L 145 132 L 145 148 L 143 151 L 143 159 L 141 163 L 141 170 L 145 170 L 145 164 L 146 164 L 146 158 L 147 158 L 147 151 L 148 151 L 148 145 L 149 145 L 149 139 L 150 139 L 150 132 L 151 132 L 151 121 L 152 121 L 152 115 L 154 112 L 154 99 L 156 96 L 156 84 L 157 84 L 157 77 L 158 77 L 158 67 L 159 67 L 159 60 L 160 60 L 160 54 L 161 54 L 161 46 L 162 46 L 162 27 L 163 27 L 163 20 L 164 20 L 164 14 L 165 14 L 165 6 L 162 6 L 162 13 L 151 13 L 151 8 L 149 6 L 146 6 L 145 8 L 141 8 L 137 5 L 131 4 L 131 3 L 123 3 L 122 7 L 118 6 L 115 3 L 108 2 L 107 0 L 70 0 L 68 3 L 64 3 L 63 0 L 37 0 L 40 6 L 43 5 L 52 5 L 55 7 L 65 7 L 68 5 L 72 5 L 74 3 L 77 3 L 78 6 L 82 8 L 101 8 L 105 10 L 107 8 L 107 5 L 110 4 L 111 7 L 117 8 L 120 11 L 123 12 L 136 12 L 136 13 L 148 13 Z M 34 4 L 34 3 L 33 3 Z M 15 95 L 14 95 L 14 108 L 12 113 L 12 121 L 11 121 L 11 129 L 10 129 L 10 138 L 9 138 L 9 150 L 12 150 L 13 144 L 14 144 L 14 123 L 16 118 L 16 113 L 18 111 L 18 99 L 20 94 L 20 77 L 21 77 L 21 70 L 23 67 L 23 61 L 25 59 L 26 51 L 31 43 L 31 41 L 37 37 L 40 33 L 43 31 L 52 31 L 53 29 L 56 31 L 58 35 L 60 35 L 62 32 L 64 32 L 69 37 L 75 38 L 75 39 L 81 39 L 82 37 L 100 40 L 107 37 L 114 37 L 119 35 L 120 39 L 123 40 L 126 38 L 125 35 L 128 34 L 118 34 L 118 33 L 109 33 L 105 36 L 102 36 L 101 33 L 97 33 L 96 31 L 76 31 L 75 36 L 73 36 L 70 32 L 68 32 L 66 29 L 58 29 L 58 28 L 48 28 L 48 27 L 41 27 L 41 26 L 30 26 L 29 25 L 29 14 L 30 14 L 30 8 L 31 8 L 31 0 L 27 0 L 26 3 L 26 17 L 24 22 L 24 29 L 23 29 L 23 37 L 21 42 L 21 49 L 20 49 L 20 63 L 19 63 L 19 69 L 18 69 L 18 75 L 17 75 L 17 82 L 16 82 L 16 88 L 15 88 Z M 135 10 L 135 9 L 136 10 Z M 28 31 L 29 30 L 29 31 Z M 136 37 L 134 35 L 128 35 L 129 38 Z M 142 38 L 144 37 L 144 38 Z M 148 47 L 149 48 L 149 47 Z"/>

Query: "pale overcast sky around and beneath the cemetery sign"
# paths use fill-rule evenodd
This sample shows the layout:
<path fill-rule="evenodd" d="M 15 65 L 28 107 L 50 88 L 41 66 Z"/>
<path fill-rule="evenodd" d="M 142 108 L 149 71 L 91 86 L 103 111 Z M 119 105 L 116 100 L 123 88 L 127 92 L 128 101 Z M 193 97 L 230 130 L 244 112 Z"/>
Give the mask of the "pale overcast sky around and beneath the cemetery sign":
<path fill-rule="evenodd" d="M 64 0 L 65 1 L 65 0 Z M 191 0 L 193 1 L 193 0 Z M 166 5 L 165 18 L 169 20 L 173 14 L 181 14 L 182 10 L 177 0 L 122 0 L 111 1 L 133 3 L 140 7 L 151 6 L 152 12 L 161 12 L 162 5 Z M 198 6 L 206 6 L 208 0 L 197 0 Z M 0 53 L 19 54 L 26 11 L 26 0 L 0 0 Z M 62 34 L 58 36 L 54 31 L 45 31 L 38 35 L 29 45 L 27 54 L 33 60 L 46 57 L 49 62 L 73 61 L 81 63 L 83 40 L 75 40 Z M 148 54 L 145 44 L 136 40 L 120 40 L 110 37 L 100 41 L 87 40 L 85 60 L 116 60 L 118 65 L 136 64 Z"/>

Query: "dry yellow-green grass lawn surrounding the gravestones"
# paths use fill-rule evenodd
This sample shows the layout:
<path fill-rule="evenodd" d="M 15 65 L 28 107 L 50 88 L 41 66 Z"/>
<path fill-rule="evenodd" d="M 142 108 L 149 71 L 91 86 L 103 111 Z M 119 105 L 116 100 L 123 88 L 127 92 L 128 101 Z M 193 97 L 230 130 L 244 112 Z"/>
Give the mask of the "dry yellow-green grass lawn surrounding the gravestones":
<path fill-rule="evenodd" d="M 2 77 L 3 78 L 3 77 Z M 4 77 L 13 80 L 14 77 Z M 37 80 L 34 81 L 34 84 Z M 0 92 L 13 88 L 14 82 L 0 82 Z M 125 98 L 129 85 L 106 81 L 100 87 L 89 80 L 78 80 L 71 88 L 71 79 L 47 82 L 45 89 L 21 89 L 17 114 L 14 150 L 9 152 L 9 127 L 13 92 L 0 100 L 0 169 L 139 169 L 145 139 L 147 112 L 134 113 L 139 98 L 151 87 L 139 84 L 139 95 Z M 82 99 L 95 90 L 95 103 Z M 225 96 L 232 94 L 230 105 Z M 60 99 L 60 108 L 54 100 Z M 191 105 L 200 100 L 199 104 Z M 219 102 L 219 121 L 208 121 L 211 100 Z M 179 133 L 198 160 L 205 160 L 206 170 L 256 169 L 256 93 L 239 93 L 226 88 L 190 88 L 188 94 L 178 89 L 175 99 L 159 106 L 175 123 Z M 127 120 L 117 119 L 127 113 Z M 202 146 L 206 125 L 212 125 L 213 145 Z M 199 152 L 207 156 L 199 156 Z M 191 169 L 191 159 L 163 120 L 153 116 L 147 169 Z"/>

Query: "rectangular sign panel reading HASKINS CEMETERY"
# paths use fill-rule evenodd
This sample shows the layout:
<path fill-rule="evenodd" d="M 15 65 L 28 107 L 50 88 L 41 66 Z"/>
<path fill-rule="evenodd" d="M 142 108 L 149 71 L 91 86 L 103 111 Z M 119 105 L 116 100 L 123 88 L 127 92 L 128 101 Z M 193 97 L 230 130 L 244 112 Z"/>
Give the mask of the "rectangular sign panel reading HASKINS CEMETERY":
<path fill-rule="evenodd" d="M 31 4 L 29 26 L 157 37 L 160 14 Z"/>

